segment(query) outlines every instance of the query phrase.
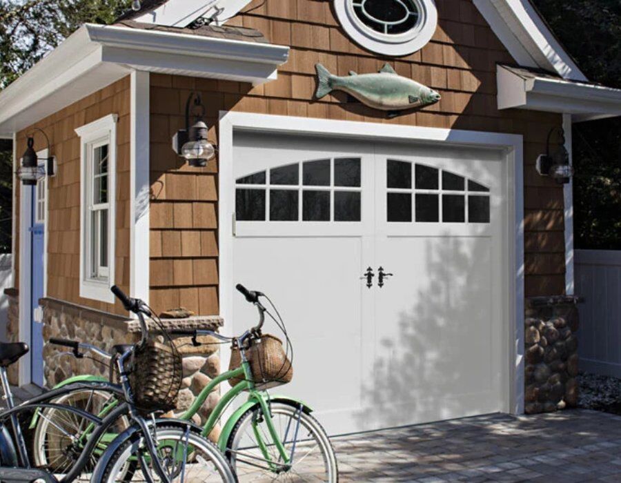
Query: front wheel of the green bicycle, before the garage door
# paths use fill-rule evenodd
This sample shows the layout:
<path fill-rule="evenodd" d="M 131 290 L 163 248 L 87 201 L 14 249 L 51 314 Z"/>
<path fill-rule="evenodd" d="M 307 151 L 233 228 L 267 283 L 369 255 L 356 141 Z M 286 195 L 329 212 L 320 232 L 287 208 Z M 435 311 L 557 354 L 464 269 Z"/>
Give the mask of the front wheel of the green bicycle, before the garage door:
<path fill-rule="evenodd" d="M 289 404 L 273 403 L 270 408 L 274 428 L 290 462 L 285 465 L 282 461 L 257 404 L 239 418 L 226 446 L 239 482 L 336 483 L 337 460 L 322 425 Z"/>

